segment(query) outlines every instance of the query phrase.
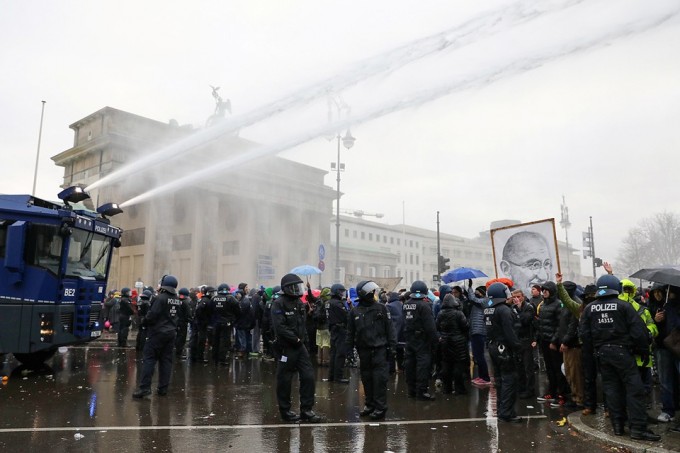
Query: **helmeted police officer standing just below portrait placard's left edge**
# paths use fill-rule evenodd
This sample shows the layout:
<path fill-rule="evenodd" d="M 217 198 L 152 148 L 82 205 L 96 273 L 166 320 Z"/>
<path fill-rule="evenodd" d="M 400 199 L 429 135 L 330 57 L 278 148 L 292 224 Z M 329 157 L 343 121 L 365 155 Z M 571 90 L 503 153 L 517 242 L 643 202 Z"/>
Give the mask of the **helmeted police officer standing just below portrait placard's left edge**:
<path fill-rule="evenodd" d="M 518 322 L 512 310 L 513 298 L 503 283 L 492 283 L 486 292 L 490 305 L 484 309 L 487 347 L 496 379 L 496 413 L 504 422 L 520 423 L 517 401 L 517 359 L 522 344 L 515 332 Z"/>

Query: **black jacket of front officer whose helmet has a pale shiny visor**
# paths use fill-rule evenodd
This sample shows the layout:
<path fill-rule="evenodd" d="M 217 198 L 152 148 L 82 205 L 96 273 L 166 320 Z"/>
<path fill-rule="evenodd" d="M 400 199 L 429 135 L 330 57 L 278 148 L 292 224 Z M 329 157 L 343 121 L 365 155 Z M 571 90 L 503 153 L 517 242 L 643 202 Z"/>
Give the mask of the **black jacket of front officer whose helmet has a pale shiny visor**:
<path fill-rule="evenodd" d="M 352 308 L 347 322 L 347 346 L 357 349 L 391 348 L 397 336 L 387 307 L 379 302 L 359 302 Z"/>

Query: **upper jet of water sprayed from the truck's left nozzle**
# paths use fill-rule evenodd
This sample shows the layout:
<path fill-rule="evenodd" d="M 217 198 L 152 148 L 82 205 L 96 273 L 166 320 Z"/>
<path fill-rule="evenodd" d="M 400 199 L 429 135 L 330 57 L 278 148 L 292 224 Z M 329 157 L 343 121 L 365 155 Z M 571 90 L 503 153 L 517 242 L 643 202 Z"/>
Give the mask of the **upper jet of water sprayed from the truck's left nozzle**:
<path fill-rule="evenodd" d="M 227 134 L 232 134 L 244 127 L 266 120 L 276 114 L 300 107 L 326 96 L 329 91 L 340 92 L 357 83 L 379 74 L 389 74 L 405 65 L 437 54 L 462 48 L 483 38 L 492 36 L 512 27 L 524 24 L 548 13 L 557 12 L 584 0 L 523 0 L 503 8 L 489 11 L 474 17 L 463 24 L 432 34 L 425 38 L 411 41 L 405 45 L 358 62 L 348 70 L 333 77 L 316 82 L 295 93 L 286 95 L 269 104 L 243 115 L 232 117 L 221 124 L 204 129 L 183 140 L 164 147 L 156 152 L 145 154 L 113 173 L 90 184 L 86 190 L 104 187 L 143 171 L 148 164 L 159 159 L 168 160 L 179 154 L 187 153 L 202 147 Z"/>

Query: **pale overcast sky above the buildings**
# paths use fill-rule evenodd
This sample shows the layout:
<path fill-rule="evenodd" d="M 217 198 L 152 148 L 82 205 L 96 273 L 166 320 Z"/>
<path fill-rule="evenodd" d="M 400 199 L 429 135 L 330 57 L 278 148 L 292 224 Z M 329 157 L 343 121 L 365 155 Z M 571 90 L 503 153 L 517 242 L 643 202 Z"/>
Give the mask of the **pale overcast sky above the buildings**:
<path fill-rule="evenodd" d="M 0 0 L 0 193 L 31 191 L 42 100 L 37 195 L 54 198 L 49 157 L 102 107 L 202 127 L 209 85 L 237 117 L 351 71 L 359 83 L 329 87 L 350 119 L 395 113 L 352 126 L 342 208 L 430 229 L 439 210 L 443 232 L 474 237 L 497 219 L 559 222 L 564 195 L 570 242 L 593 216 L 614 260 L 641 218 L 680 211 L 679 13 L 675 0 Z M 442 31 L 440 51 L 393 71 L 357 65 Z M 241 136 L 272 146 L 327 120 L 322 96 Z M 282 155 L 330 170 L 336 152 L 321 137 Z"/>

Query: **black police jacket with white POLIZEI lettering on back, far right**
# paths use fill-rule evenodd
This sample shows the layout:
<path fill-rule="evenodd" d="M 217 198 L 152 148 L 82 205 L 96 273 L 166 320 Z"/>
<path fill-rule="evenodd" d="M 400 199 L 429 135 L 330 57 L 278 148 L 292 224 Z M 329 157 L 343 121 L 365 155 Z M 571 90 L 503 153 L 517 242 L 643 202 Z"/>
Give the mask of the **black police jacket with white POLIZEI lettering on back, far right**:
<path fill-rule="evenodd" d="M 637 353 L 648 353 L 647 327 L 635 309 L 616 295 L 588 304 L 581 315 L 579 334 L 584 346 L 595 350 L 604 345 L 622 346 Z"/>

